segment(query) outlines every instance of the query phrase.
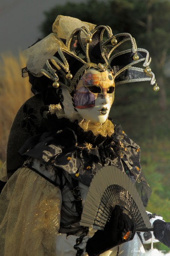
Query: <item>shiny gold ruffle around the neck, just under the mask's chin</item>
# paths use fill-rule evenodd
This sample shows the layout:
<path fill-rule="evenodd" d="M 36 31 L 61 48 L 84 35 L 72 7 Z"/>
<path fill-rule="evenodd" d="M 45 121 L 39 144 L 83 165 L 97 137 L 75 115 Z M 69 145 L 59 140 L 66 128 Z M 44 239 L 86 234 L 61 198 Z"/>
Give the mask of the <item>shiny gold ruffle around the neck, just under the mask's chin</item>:
<path fill-rule="evenodd" d="M 83 119 L 81 122 L 79 122 L 79 126 L 84 131 L 92 131 L 95 136 L 101 134 L 103 137 L 106 137 L 107 135 L 111 137 L 114 132 L 114 125 L 108 119 L 103 124 L 92 123 Z"/>

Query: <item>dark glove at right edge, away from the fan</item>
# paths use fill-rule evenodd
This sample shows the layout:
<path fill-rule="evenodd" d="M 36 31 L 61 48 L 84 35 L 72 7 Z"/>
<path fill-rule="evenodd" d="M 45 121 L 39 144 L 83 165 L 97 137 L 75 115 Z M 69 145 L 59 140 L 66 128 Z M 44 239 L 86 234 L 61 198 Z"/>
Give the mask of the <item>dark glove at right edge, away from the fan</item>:
<path fill-rule="evenodd" d="M 156 220 L 153 222 L 153 235 L 170 248 L 170 222 Z"/>

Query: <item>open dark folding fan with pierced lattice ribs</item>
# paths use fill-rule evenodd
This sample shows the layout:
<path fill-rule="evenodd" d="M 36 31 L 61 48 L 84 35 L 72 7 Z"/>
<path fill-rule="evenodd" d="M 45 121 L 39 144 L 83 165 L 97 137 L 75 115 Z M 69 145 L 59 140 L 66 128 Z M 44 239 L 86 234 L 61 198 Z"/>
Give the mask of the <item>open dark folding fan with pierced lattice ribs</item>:
<path fill-rule="evenodd" d="M 103 230 L 116 205 L 119 205 L 123 213 L 136 223 L 136 231 L 153 230 L 132 181 L 114 166 L 105 166 L 94 175 L 83 207 L 80 225 Z"/>

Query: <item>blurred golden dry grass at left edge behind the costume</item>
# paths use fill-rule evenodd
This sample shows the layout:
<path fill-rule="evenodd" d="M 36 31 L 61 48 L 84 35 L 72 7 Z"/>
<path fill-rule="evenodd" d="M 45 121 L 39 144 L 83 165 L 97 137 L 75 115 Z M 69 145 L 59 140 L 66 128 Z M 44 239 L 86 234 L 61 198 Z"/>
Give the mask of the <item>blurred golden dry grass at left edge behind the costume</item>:
<path fill-rule="evenodd" d="M 30 98 L 31 85 L 28 77 L 21 77 L 24 59 L 19 53 L 14 57 L 10 52 L 0 56 L 0 160 L 5 160 L 8 134 L 20 106 Z"/>

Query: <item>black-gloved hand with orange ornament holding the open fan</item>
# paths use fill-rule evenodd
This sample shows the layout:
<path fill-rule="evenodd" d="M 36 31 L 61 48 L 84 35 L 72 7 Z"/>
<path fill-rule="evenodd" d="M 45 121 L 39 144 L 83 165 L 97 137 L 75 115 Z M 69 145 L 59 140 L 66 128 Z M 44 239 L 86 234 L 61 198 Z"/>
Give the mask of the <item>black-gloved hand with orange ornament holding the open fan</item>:
<path fill-rule="evenodd" d="M 104 230 L 97 230 L 87 241 L 86 252 L 89 256 L 99 256 L 112 247 L 132 240 L 136 224 L 116 205 Z"/>

